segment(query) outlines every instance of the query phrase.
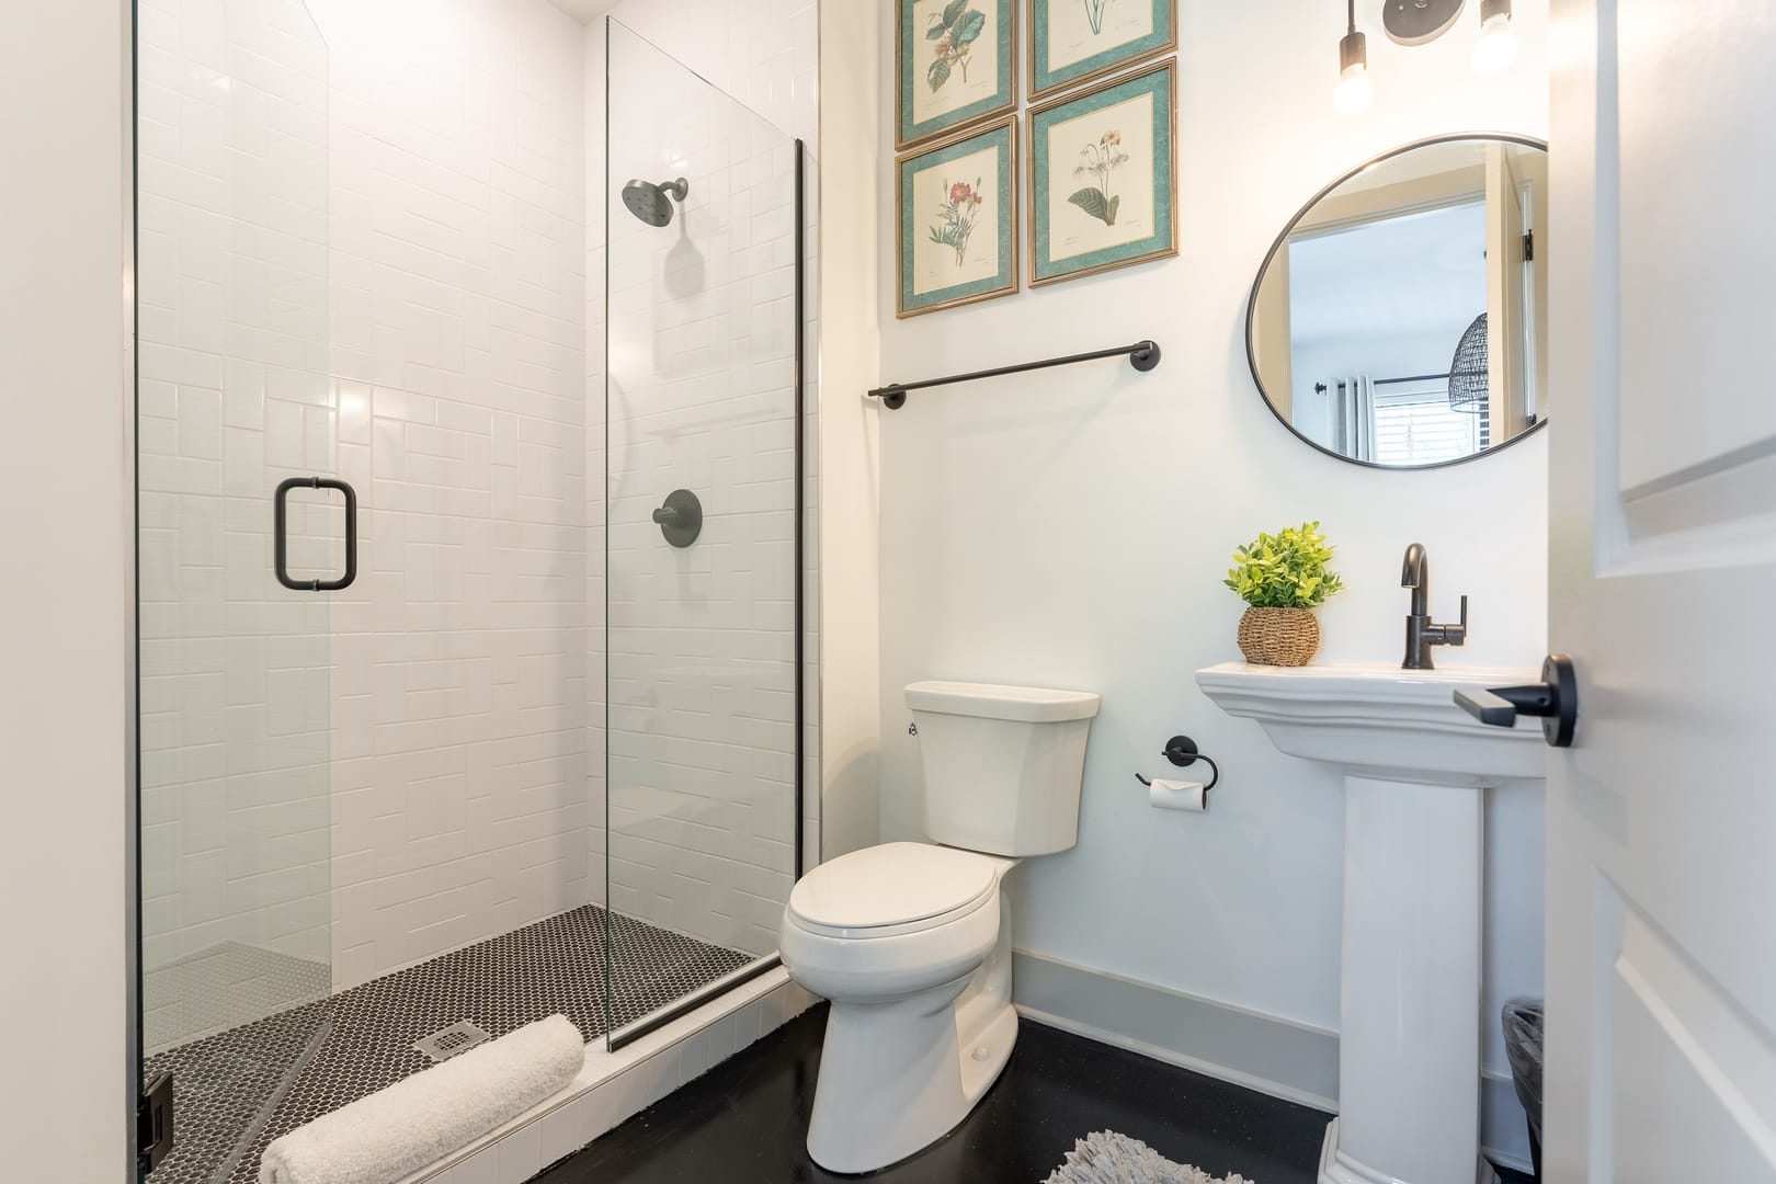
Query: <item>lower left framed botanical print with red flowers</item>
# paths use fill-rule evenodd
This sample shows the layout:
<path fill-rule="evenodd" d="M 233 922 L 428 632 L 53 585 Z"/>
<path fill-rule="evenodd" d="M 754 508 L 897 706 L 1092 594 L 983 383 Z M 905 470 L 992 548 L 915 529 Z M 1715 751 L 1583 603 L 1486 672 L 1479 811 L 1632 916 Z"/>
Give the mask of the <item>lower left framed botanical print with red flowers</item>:
<path fill-rule="evenodd" d="M 895 316 L 1018 291 L 1018 117 L 895 162 Z"/>

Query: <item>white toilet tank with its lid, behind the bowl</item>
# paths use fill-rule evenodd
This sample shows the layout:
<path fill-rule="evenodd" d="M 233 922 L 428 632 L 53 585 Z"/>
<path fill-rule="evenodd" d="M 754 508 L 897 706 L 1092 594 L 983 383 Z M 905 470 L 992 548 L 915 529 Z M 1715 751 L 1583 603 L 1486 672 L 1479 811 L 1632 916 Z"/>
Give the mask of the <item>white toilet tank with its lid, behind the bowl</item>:
<path fill-rule="evenodd" d="M 1078 841 L 1096 694 L 915 682 L 906 705 L 918 726 L 932 841 L 1014 857 Z"/>

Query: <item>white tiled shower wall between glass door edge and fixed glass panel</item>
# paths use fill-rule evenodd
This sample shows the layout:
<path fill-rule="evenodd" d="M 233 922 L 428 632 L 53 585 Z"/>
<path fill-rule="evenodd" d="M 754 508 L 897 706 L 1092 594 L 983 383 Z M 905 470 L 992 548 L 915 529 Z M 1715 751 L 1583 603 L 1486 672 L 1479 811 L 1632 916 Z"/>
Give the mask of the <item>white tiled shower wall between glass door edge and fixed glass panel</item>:
<path fill-rule="evenodd" d="M 586 678 L 581 28 L 318 0 L 339 467 L 334 955 L 350 987 L 599 902 Z"/>

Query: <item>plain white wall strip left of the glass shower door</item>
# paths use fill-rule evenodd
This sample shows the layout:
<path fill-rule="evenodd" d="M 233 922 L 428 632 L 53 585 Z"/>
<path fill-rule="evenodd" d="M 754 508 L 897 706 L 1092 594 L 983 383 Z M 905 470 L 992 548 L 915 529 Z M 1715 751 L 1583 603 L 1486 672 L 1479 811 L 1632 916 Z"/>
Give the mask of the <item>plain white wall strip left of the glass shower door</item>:
<path fill-rule="evenodd" d="M 12 5 L 0 37 L 0 1077 L 5 1177 L 133 1180 L 124 912 L 133 612 L 128 23 Z"/>

